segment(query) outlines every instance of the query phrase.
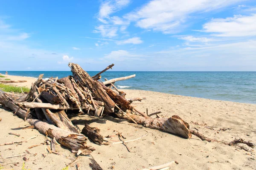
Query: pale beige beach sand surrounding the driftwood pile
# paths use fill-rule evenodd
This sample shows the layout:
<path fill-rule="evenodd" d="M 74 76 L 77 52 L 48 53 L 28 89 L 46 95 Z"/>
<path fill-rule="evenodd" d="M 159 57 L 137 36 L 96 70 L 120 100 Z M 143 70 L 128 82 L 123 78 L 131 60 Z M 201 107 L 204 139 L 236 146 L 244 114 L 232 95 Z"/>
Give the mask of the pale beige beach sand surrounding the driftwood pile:
<path fill-rule="evenodd" d="M 24 79 L 24 77 L 17 79 Z M 12 76 L 12 79 L 14 77 Z M 27 78 L 28 86 L 35 79 Z M 127 98 L 147 97 L 142 102 L 134 102 L 141 111 L 148 108 L 149 113 L 162 111 L 160 115 L 172 116 L 178 115 L 184 121 L 188 122 L 191 129 L 196 127 L 199 132 L 219 141 L 230 142 L 235 138 L 243 138 L 256 143 L 256 105 L 225 102 L 211 99 L 202 99 L 188 96 L 179 96 L 173 94 L 164 94 L 152 91 L 124 90 Z M 0 143 L 10 141 L 22 141 L 32 136 L 37 138 L 23 142 L 22 145 L 0 146 L 0 154 L 5 158 L 7 156 L 26 154 L 29 161 L 23 161 L 23 156 L 5 159 L 5 162 L 18 161 L 19 164 L 8 164 L 4 168 L 13 168 L 20 170 L 23 162 L 25 167 L 31 170 L 42 168 L 43 170 L 61 170 L 72 162 L 66 156 L 76 158 L 73 153 L 65 147 L 57 147 L 61 155 L 47 153 L 46 145 L 40 145 L 32 149 L 29 146 L 41 144 L 45 141 L 45 136 L 35 129 L 15 130 L 17 127 L 25 127 L 28 123 L 9 111 L 0 108 Z M 118 130 L 127 137 L 126 140 L 136 139 L 148 133 L 135 142 L 129 142 L 128 146 L 132 153 L 129 153 L 123 144 L 96 145 L 88 141 L 87 143 L 95 147 L 96 150 L 91 156 L 98 162 L 103 170 L 139 170 L 144 167 L 151 167 L 165 164 L 169 161 L 177 161 L 178 164 L 172 164 L 173 170 L 255 170 L 256 156 L 255 150 L 249 148 L 251 152 L 241 150 L 236 147 L 227 146 L 218 142 L 206 142 L 199 140 L 196 136 L 192 139 L 183 139 L 178 136 L 164 133 L 158 130 L 148 129 L 128 123 L 125 120 L 106 117 L 96 119 L 86 115 L 77 116 L 72 119 L 80 130 L 84 122 L 88 122 L 93 127 L 99 127 L 103 136 L 114 136 L 113 140 L 118 140 L 115 136 Z M 194 122 L 194 123 L 193 123 Z M 199 125 L 195 125 L 199 124 Z M 212 129 L 209 129 L 210 126 Z M 140 128 L 138 128 L 140 127 Z M 226 131 L 218 131 L 220 128 L 231 128 Z M 20 137 L 9 135 L 9 132 L 19 133 Z M 9 149 L 10 148 L 10 149 Z M 246 147 L 248 148 L 248 147 Z M 31 154 L 26 153 L 29 150 Z M 42 154 L 46 155 L 44 158 Z M 35 155 L 36 154 L 36 155 Z M 89 163 L 91 156 L 79 156 L 81 170 L 90 170 Z M 0 159 L 0 161 L 2 161 Z M 3 163 L 0 163 L 3 164 Z M 75 170 L 76 167 L 69 167 L 69 170 Z"/>

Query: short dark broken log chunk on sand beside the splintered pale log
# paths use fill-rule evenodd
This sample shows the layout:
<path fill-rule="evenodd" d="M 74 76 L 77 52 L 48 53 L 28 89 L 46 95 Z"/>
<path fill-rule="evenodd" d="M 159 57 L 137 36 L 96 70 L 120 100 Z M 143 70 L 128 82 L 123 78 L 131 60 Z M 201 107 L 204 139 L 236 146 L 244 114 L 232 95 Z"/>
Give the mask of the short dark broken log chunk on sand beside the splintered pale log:
<path fill-rule="evenodd" d="M 82 130 L 82 133 L 92 139 L 94 143 L 101 145 L 103 142 L 103 136 L 101 136 L 99 132 L 100 129 L 98 127 L 90 127 L 87 124 L 85 124 Z"/>

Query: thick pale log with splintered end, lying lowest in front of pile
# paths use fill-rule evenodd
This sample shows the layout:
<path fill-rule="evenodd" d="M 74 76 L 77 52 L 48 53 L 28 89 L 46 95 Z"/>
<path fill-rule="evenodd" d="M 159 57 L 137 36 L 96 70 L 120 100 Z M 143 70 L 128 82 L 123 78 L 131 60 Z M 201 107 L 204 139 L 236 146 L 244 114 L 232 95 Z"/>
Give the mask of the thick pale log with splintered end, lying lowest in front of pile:
<path fill-rule="evenodd" d="M 86 145 L 87 138 L 82 134 L 72 133 L 37 119 L 27 119 L 27 121 L 34 125 L 39 132 L 48 135 L 52 139 L 55 138 L 58 143 L 70 148 L 77 155 L 88 155 L 95 150 L 95 148 Z"/>

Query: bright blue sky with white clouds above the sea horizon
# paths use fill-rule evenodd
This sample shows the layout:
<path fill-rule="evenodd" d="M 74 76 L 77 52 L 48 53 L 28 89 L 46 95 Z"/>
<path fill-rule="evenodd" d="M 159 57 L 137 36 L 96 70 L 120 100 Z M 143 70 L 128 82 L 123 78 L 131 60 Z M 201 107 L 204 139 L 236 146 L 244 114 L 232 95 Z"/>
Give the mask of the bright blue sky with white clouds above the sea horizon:
<path fill-rule="evenodd" d="M 255 0 L 5 0 L 1 71 L 256 71 Z"/>

